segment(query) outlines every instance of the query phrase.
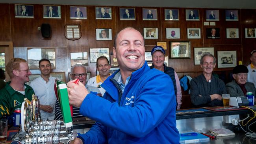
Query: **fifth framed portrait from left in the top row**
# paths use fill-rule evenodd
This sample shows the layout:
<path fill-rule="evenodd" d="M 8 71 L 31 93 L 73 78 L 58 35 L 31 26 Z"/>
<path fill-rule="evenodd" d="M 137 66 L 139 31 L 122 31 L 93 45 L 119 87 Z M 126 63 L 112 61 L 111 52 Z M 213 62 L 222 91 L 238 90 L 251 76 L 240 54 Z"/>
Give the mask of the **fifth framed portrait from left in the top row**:
<path fill-rule="evenodd" d="M 135 8 L 119 8 L 120 20 L 135 20 Z"/>

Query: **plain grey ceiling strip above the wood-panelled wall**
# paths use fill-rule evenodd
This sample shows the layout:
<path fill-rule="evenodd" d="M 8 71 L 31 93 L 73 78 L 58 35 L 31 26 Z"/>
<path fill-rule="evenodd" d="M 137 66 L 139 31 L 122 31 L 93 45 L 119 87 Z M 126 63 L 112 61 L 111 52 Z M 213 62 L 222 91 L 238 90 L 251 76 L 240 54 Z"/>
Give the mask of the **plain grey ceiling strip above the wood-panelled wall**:
<path fill-rule="evenodd" d="M 256 0 L 0 0 L 0 3 L 256 9 Z"/>

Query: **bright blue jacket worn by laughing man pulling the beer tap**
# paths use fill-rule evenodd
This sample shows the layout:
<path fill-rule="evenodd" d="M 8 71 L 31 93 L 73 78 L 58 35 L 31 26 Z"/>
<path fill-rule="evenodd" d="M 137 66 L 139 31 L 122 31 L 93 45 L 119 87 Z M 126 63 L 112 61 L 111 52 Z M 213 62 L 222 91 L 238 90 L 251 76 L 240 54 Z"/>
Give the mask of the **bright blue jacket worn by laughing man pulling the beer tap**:
<path fill-rule="evenodd" d="M 118 70 L 101 85 L 104 98 L 88 94 L 80 113 L 96 120 L 85 134 L 84 144 L 178 144 L 176 100 L 173 82 L 163 72 L 150 69 L 147 62 L 132 73 L 122 90 L 116 87 Z"/>

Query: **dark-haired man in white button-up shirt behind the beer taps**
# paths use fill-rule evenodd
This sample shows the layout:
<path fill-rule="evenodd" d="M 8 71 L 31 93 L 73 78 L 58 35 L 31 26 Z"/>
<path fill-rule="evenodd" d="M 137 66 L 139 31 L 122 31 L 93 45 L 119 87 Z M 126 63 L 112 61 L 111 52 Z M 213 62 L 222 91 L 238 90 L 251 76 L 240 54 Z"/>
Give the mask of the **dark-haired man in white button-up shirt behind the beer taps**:
<path fill-rule="evenodd" d="M 40 101 L 40 113 L 42 120 L 54 120 L 54 106 L 57 100 L 54 92 L 54 77 L 50 76 L 51 63 L 48 59 L 39 61 L 41 76 L 34 79 L 30 86 L 35 91 Z"/>

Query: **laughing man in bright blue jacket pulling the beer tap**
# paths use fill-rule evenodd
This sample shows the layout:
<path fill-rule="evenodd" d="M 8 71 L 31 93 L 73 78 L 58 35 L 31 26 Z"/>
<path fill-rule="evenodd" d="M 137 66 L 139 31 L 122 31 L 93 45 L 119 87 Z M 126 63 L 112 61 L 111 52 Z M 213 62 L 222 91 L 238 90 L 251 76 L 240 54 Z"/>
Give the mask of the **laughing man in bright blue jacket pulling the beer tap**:
<path fill-rule="evenodd" d="M 89 94 L 82 83 L 69 82 L 69 102 L 97 122 L 74 144 L 178 144 L 176 100 L 171 78 L 150 69 L 143 36 L 134 28 L 121 30 L 114 41 L 120 70 L 102 83 L 103 98 Z"/>

